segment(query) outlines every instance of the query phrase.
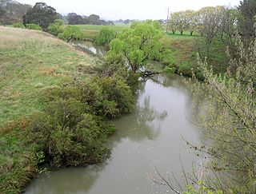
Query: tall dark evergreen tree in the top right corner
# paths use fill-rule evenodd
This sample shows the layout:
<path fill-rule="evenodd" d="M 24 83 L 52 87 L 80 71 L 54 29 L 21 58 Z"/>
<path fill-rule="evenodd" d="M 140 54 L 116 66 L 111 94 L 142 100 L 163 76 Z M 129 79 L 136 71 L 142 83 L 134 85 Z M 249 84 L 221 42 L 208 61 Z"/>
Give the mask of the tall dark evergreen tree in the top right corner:
<path fill-rule="evenodd" d="M 250 43 L 256 38 L 255 33 L 255 16 L 256 16 L 256 1 L 255 0 L 243 0 L 238 6 L 239 17 L 238 17 L 238 30 L 242 35 L 242 41 Z"/>

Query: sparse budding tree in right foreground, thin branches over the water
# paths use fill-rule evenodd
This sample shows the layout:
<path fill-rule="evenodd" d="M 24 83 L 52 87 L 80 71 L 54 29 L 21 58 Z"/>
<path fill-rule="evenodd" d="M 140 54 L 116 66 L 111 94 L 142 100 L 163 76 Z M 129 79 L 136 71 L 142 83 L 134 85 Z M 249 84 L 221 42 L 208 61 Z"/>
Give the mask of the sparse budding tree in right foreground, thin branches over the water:
<path fill-rule="evenodd" d="M 228 70 L 217 76 L 206 62 L 199 63 L 210 94 L 207 107 L 202 105 L 202 127 L 213 142 L 194 148 L 211 158 L 206 168 L 214 177 L 204 176 L 210 180 L 204 184 L 228 193 L 255 193 L 256 40 L 247 49 L 238 39 L 238 47 L 238 58 L 230 59 L 230 65 L 238 66 L 235 74 Z"/>

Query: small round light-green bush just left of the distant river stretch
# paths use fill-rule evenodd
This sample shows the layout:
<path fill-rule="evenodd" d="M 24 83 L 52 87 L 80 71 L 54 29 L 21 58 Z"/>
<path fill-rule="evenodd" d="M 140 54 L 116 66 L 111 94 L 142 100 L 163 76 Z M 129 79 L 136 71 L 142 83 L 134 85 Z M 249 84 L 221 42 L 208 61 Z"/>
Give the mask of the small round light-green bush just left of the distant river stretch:
<path fill-rule="evenodd" d="M 80 40 L 84 37 L 84 34 L 80 30 L 78 26 L 66 26 L 63 33 L 58 34 L 59 38 L 62 38 L 64 40 L 74 39 L 74 40 Z"/>

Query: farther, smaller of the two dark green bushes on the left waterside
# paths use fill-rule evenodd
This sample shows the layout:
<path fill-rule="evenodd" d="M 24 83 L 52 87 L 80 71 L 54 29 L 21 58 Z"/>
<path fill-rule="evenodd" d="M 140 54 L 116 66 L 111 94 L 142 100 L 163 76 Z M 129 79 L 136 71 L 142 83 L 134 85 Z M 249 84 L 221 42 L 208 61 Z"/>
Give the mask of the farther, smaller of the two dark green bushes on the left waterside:
<path fill-rule="evenodd" d="M 91 113 L 107 118 L 130 113 L 134 105 L 130 87 L 120 77 L 95 77 L 83 85 L 82 97 Z"/>

